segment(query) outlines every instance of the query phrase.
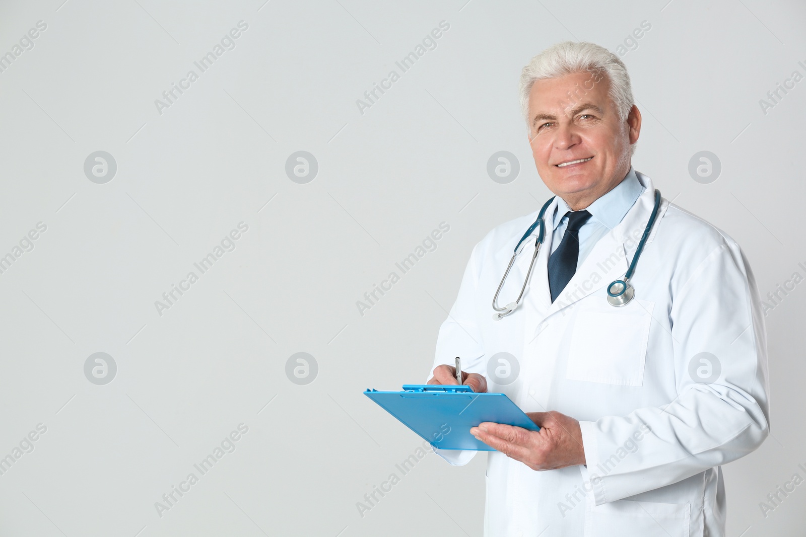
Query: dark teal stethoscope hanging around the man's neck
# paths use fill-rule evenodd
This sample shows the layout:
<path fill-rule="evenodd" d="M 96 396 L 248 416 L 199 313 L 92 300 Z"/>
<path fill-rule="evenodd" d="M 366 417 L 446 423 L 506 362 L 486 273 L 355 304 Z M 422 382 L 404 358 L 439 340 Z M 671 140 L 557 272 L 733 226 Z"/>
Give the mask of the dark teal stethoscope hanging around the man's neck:
<path fill-rule="evenodd" d="M 638 263 L 638 258 L 641 257 L 641 252 L 644 249 L 644 243 L 646 242 L 646 238 L 650 236 L 650 231 L 652 231 L 652 226 L 654 225 L 655 219 L 658 217 L 658 208 L 660 207 L 660 191 L 655 188 L 655 201 L 654 207 L 652 208 L 652 214 L 650 214 L 650 220 L 646 222 L 646 228 L 644 228 L 644 234 L 641 238 L 641 242 L 638 242 L 638 248 L 635 250 L 635 254 L 633 255 L 633 261 L 629 263 L 629 268 L 624 275 L 624 279 L 617 279 L 610 283 L 607 286 L 607 301 L 613 306 L 624 306 L 629 304 L 629 301 L 633 299 L 635 296 L 635 289 L 633 286 L 629 285 L 629 279 L 633 277 L 633 273 L 635 271 L 635 265 Z M 492 297 L 492 309 L 496 311 L 496 313 L 492 314 L 493 320 L 501 320 L 505 316 L 508 316 L 510 313 L 514 312 L 515 309 L 521 304 L 521 298 L 523 298 L 523 292 L 526 291 L 526 282 L 529 281 L 529 276 L 532 274 L 532 267 L 534 266 L 534 260 L 538 258 L 538 251 L 540 249 L 540 245 L 543 242 L 543 239 L 546 237 L 546 222 L 543 220 L 543 215 L 546 213 L 546 209 L 554 201 L 556 196 L 551 196 L 551 199 L 546 201 L 543 204 L 542 208 L 540 209 L 540 213 L 538 213 L 538 219 L 534 221 L 534 224 L 529 226 L 529 229 L 526 229 L 526 233 L 523 233 L 523 237 L 521 240 L 517 242 L 515 246 L 514 253 L 512 254 L 512 258 L 509 259 L 509 266 L 506 267 L 506 271 L 504 273 L 504 277 L 501 278 L 501 283 L 498 284 L 498 289 L 496 289 L 496 294 Z M 515 263 L 515 258 L 518 254 L 518 248 L 521 247 L 521 244 L 526 241 L 526 238 L 529 238 L 535 228 L 539 227 L 538 231 L 538 238 L 534 242 L 534 254 L 532 254 L 532 261 L 529 263 L 529 271 L 526 272 L 526 278 L 523 280 L 523 286 L 521 287 L 521 293 L 517 295 L 517 299 L 514 302 L 510 302 L 504 308 L 496 307 L 496 302 L 498 300 L 498 293 L 501 292 L 501 287 L 504 287 L 504 282 L 506 281 L 507 275 L 509 275 L 509 270 L 512 268 L 513 264 Z"/>

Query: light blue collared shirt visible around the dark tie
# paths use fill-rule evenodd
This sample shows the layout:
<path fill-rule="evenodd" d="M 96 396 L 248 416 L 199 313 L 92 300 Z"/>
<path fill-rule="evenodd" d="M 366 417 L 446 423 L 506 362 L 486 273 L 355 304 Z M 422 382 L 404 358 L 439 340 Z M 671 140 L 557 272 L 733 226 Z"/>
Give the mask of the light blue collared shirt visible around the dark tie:
<path fill-rule="evenodd" d="M 580 257 L 576 262 L 577 267 L 584 262 L 596 242 L 621 222 L 643 191 L 644 187 L 638 182 L 635 170 L 630 166 L 621 183 L 585 208 L 588 213 L 591 213 L 591 217 L 580 227 Z M 571 210 L 563 198 L 559 196 L 558 198 L 555 213 L 551 215 L 552 229 L 554 229 L 554 234 L 551 236 L 552 254 L 563 240 L 563 234 L 568 225 L 565 213 Z"/>

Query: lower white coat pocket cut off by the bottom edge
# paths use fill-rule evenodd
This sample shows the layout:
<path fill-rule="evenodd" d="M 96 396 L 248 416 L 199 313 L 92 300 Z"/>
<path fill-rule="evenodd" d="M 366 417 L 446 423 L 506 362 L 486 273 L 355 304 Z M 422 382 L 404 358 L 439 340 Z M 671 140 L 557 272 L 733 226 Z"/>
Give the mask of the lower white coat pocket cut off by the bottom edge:
<path fill-rule="evenodd" d="M 616 500 L 594 506 L 588 498 L 585 537 L 689 537 L 691 504 Z"/>

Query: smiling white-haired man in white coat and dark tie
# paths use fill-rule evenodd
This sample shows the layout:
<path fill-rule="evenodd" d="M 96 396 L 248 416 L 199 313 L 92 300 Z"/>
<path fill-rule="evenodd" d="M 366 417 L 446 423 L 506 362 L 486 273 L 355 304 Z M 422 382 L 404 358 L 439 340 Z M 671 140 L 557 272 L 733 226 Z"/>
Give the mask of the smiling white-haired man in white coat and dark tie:
<path fill-rule="evenodd" d="M 725 535 L 721 465 L 769 431 L 758 289 L 726 233 L 658 197 L 630 159 L 641 131 L 624 64 L 559 43 L 521 74 L 534 163 L 556 195 L 473 248 L 439 330 L 430 384 L 503 392 L 541 430 L 481 423 L 484 535 Z M 654 222 L 650 218 L 655 212 Z M 632 274 L 628 269 L 645 231 Z M 629 278 L 625 278 L 628 275 Z M 634 297 L 609 301 L 614 280 Z M 475 451 L 436 452 L 465 465 Z"/>

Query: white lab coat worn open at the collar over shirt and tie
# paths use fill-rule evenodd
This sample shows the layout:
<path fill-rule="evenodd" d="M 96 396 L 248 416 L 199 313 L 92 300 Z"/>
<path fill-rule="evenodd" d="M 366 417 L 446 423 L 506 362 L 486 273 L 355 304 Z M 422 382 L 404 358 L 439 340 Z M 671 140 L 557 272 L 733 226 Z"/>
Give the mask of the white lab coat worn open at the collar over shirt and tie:
<path fill-rule="evenodd" d="M 662 200 L 631 280 L 635 298 L 622 308 L 607 303 L 605 289 L 625 274 L 654 202 L 652 181 L 636 175 L 646 189 L 554 304 L 547 226 L 521 306 L 492 320 L 492 295 L 535 212 L 492 229 L 474 247 L 439 330 L 428 378 L 459 356 L 463 370 L 483 374 L 488 391 L 507 394 L 523 411 L 580 420 L 586 466 L 538 472 L 488 452 L 488 537 L 720 537 L 720 465 L 767 437 L 764 320 L 750 266 L 732 238 Z M 499 305 L 517 296 L 534 237 L 524 248 Z M 505 386 L 488 374 L 489 359 L 501 352 L 520 366 Z M 452 465 L 476 455 L 436 451 Z"/>

